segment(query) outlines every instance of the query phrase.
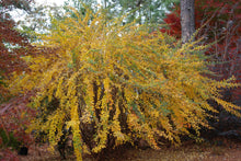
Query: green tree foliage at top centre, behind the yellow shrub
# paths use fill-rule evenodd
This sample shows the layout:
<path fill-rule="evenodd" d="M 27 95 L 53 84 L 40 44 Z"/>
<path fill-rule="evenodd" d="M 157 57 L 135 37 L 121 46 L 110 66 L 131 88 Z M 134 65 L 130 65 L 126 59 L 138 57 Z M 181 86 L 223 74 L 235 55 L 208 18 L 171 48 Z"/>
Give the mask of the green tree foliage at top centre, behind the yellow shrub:
<path fill-rule="evenodd" d="M 138 24 L 159 24 L 164 18 L 164 13 L 171 10 L 174 2 L 179 0 L 102 0 L 101 5 L 108 12 L 108 19 L 128 14 L 124 24 L 134 20 Z M 90 1 L 89 1 L 90 2 Z M 95 2 L 96 3 L 96 2 Z"/>

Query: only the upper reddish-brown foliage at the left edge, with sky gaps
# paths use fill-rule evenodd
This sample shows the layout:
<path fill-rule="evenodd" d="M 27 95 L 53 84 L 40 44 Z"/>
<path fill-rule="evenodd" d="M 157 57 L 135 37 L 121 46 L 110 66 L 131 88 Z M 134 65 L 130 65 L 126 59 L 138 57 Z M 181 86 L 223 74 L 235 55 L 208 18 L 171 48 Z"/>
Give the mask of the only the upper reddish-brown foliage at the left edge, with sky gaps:
<path fill-rule="evenodd" d="M 26 66 L 21 56 L 26 55 L 31 45 L 26 37 L 15 30 L 16 22 L 10 11 L 30 12 L 31 0 L 0 1 L 0 102 L 8 97 L 4 79 L 13 71 L 22 71 Z"/>

